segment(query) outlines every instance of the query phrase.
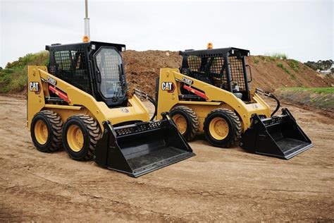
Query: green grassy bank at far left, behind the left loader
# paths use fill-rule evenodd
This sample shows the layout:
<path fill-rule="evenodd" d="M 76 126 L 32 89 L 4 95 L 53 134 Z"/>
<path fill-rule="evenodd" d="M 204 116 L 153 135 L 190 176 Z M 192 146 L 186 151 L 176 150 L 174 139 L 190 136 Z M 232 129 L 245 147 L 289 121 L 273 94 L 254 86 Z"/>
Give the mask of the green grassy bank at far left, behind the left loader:
<path fill-rule="evenodd" d="M 27 54 L 13 63 L 8 63 L 6 68 L 0 71 L 0 92 L 20 92 L 27 83 L 27 66 L 47 66 L 49 62 L 48 52 Z"/>

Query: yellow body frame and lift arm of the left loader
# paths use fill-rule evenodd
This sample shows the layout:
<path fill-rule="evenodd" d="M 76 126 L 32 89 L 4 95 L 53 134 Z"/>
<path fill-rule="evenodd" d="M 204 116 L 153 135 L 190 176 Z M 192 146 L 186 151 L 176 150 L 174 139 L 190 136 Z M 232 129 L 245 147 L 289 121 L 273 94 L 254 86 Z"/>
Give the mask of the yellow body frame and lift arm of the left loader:
<path fill-rule="evenodd" d="M 56 80 L 55 88 L 66 92 L 70 102 L 68 105 L 47 104 L 44 97 L 49 95 L 48 80 Z M 32 84 L 32 83 L 35 83 Z M 36 83 L 38 83 L 36 85 Z M 30 88 L 30 85 L 32 87 Z M 27 89 L 27 128 L 30 129 L 32 118 L 39 111 L 48 109 L 55 111 L 63 122 L 69 116 L 75 114 L 89 114 L 99 123 L 102 131 L 104 131 L 103 121 L 109 120 L 113 125 L 124 123 L 127 121 L 149 121 L 149 111 L 144 107 L 140 99 L 136 95 L 128 95 L 128 107 L 116 107 L 110 109 L 104 102 L 97 102 L 92 95 L 87 94 L 75 88 L 75 86 L 51 75 L 47 72 L 45 66 L 28 66 L 28 89 Z M 37 86 L 37 87 L 36 87 Z M 40 89 L 37 89 L 40 88 Z"/>

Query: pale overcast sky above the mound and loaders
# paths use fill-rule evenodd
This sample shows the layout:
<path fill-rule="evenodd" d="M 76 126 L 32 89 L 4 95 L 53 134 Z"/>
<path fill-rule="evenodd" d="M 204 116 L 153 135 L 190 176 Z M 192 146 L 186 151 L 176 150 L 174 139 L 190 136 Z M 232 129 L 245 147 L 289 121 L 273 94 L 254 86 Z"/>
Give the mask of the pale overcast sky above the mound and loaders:
<path fill-rule="evenodd" d="M 91 39 L 127 49 L 239 47 L 334 59 L 333 1 L 89 1 Z M 46 44 L 81 42 L 84 0 L 0 0 L 0 66 Z"/>

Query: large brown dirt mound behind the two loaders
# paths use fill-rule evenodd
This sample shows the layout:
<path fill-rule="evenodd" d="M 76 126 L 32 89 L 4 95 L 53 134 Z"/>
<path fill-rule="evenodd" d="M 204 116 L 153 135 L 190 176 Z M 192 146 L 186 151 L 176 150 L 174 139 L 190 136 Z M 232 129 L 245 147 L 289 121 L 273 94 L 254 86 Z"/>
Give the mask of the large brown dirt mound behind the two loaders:
<path fill-rule="evenodd" d="M 128 50 L 123 53 L 125 73 L 131 86 L 154 95 L 155 80 L 160 68 L 179 68 L 178 52 Z M 252 86 L 264 90 L 282 87 L 330 87 L 334 79 L 321 77 L 299 61 L 276 59 L 272 56 L 249 56 L 247 64 L 252 67 Z"/>

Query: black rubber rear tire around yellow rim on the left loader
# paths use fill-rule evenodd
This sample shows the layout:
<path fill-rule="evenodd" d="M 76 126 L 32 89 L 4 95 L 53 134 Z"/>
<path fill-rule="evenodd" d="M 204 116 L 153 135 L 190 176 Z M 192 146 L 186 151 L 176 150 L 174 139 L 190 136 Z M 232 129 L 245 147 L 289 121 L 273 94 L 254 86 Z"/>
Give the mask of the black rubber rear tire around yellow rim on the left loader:
<path fill-rule="evenodd" d="M 47 142 L 44 144 L 39 144 L 35 135 L 35 125 L 37 121 L 43 121 L 47 126 L 48 137 Z M 32 143 L 34 143 L 37 150 L 40 152 L 54 152 L 59 150 L 62 147 L 61 144 L 61 131 L 63 128 L 63 121 L 61 121 L 61 117 L 56 114 L 54 111 L 44 110 L 39 111 L 35 114 L 32 119 L 32 123 L 30 126 L 30 135 L 32 138 Z"/>

